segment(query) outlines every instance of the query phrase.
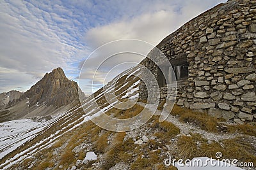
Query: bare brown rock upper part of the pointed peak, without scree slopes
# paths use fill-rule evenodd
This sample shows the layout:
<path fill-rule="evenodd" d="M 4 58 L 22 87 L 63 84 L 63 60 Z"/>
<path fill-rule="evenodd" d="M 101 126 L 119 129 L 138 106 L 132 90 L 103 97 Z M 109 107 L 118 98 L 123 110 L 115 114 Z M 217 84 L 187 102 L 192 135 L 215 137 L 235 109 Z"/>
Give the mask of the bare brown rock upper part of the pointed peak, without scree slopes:
<path fill-rule="evenodd" d="M 68 80 L 64 71 L 58 67 L 46 73 L 42 80 L 22 94 L 20 101 L 24 99 L 29 100 L 29 106 L 44 103 L 59 108 L 78 99 L 78 85 Z"/>

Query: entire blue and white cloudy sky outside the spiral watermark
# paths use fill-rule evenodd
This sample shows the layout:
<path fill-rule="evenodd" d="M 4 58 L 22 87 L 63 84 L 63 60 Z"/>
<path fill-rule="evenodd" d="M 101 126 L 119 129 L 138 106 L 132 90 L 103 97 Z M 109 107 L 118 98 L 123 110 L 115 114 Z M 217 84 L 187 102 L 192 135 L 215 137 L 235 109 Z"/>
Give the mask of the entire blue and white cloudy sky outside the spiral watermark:
<path fill-rule="evenodd" d="M 225 1 L 0 0 L 0 92 L 26 91 L 56 67 L 78 81 L 83 61 L 104 43 L 129 38 L 157 45 Z"/>

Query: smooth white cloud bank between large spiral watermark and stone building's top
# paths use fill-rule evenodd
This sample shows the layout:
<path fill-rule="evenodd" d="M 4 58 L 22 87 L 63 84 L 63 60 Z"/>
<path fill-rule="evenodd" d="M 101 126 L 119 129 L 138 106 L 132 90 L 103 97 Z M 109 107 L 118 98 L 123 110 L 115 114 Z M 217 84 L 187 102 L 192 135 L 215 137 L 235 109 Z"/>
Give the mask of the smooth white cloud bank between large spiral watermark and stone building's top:
<path fill-rule="evenodd" d="M 157 45 L 163 38 L 191 18 L 213 7 L 217 1 L 156 1 L 143 8 L 143 14 L 95 27 L 86 32 L 86 42 L 92 48 L 116 39 L 134 38 Z M 156 4 L 156 6 L 154 6 Z"/>

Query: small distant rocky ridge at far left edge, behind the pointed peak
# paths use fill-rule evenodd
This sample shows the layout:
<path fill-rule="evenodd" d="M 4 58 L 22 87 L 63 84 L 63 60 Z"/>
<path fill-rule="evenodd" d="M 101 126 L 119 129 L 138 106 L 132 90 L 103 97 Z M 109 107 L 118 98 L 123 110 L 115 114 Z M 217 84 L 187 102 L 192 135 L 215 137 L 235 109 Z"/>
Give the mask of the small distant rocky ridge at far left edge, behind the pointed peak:
<path fill-rule="evenodd" d="M 20 98 L 22 92 L 12 90 L 10 92 L 3 92 L 0 94 L 0 110 L 4 109 L 9 103 L 12 103 Z"/>

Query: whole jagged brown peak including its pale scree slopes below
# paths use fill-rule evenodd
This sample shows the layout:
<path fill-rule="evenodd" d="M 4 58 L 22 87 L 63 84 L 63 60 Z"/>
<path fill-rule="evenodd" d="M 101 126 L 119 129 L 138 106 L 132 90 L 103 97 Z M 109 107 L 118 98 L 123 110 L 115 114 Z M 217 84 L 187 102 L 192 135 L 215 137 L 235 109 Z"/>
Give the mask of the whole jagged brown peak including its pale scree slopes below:
<path fill-rule="evenodd" d="M 51 118 L 65 113 L 79 103 L 78 88 L 75 81 L 68 80 L 63 69 L 53 69 L 19 98 L 10 101 L 0 112 L 0 122 L 19 118 Z"/>

